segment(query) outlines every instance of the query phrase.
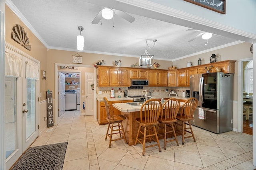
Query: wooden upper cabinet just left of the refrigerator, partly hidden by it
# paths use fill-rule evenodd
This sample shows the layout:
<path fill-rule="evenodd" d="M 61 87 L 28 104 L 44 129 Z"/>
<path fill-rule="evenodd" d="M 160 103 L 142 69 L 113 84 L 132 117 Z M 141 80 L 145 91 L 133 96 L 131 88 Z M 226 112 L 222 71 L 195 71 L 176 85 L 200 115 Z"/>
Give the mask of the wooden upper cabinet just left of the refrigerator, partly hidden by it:
<path fill-rule="evenodd" d="M 179 69 L 178 86 L 190 86 L 190 75 L 197 74 L 197 68 Z"/>

